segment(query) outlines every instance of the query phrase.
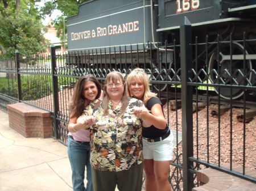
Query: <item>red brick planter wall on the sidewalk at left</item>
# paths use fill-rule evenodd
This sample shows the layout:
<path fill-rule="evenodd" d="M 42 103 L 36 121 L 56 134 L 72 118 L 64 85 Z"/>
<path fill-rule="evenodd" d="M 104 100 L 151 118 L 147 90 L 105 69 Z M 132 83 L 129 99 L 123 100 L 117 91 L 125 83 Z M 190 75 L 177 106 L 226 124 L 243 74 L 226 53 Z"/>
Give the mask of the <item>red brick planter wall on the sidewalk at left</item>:
<path fill-rule="evenodd" d="M 25 103 L 7 105 L 10 128 L 24 137 L 48 138 L 53 135 L 51 113 Z"/>

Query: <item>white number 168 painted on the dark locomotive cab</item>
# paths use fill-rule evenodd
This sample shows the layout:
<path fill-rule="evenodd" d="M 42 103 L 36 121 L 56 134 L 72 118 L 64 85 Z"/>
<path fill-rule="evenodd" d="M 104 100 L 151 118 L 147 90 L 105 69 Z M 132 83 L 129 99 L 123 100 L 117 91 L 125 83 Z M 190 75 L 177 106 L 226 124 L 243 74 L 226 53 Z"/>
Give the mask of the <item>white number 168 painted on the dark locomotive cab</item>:
<path fill-rule="evenodd" d="M 177 10 L 176 13 L 197 10 L 199 7 L 199 0 L 176 0 Z"/>

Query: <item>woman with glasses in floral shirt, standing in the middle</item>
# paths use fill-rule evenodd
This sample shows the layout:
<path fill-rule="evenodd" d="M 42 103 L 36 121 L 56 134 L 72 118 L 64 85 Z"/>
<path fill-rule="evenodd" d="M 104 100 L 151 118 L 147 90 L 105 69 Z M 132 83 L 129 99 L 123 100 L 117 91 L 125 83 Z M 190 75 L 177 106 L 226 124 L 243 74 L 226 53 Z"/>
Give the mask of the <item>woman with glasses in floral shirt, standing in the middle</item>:
<path fill-rule="evenodd" d="M 90 127 L 92 179 L 94 191 L 141 191 L 142 120 L 134 109 L 144 107 L 141 100 L 127 97 L 121 73 L 108 74 L 102 102 L 92 101 L 84 114 L 94 116 Z M 144 121 L 146 122 L 146 121 Z"/>

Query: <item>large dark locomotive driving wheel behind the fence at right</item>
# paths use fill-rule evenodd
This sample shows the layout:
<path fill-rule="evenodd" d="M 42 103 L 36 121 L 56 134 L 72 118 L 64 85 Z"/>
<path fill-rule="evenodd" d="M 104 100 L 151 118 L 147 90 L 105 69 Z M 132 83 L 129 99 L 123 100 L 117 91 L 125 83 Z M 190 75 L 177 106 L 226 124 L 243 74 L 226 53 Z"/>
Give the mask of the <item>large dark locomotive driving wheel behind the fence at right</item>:
<path fill-rule="evenodd" d="M 213 52 L 210 55 L 209 78 L 211 83 L 236 84 L 234 81 L 230 80 L 231 75 L 238 84 L 242 86 L 247 84 L 243 75 L 246 75 L 246 73 L 252 69 L 252 63 L 251 60 L 246 60 L 245 69 L 243 68 L 243 49 L 243 46 L 239 43 L 232 44 L 232 63 L 230 63 L 230 44 L 221 45 L 219 64 L 217 52 Z M 245 54 L 248 54 L 248 52 L 246 51 Z M 216 72 L 214 70 L 216 70 Z M 251 75 L 249 80 L 251 80 Z M 231 97 L 232 99 L 238 99 L 243 95 L 243 90 L 239 88 L 232 88 L 232 91 L 230 91 L 230 87 L 216 87 L 215 91 L 224 99 L 231 99 Z"/>

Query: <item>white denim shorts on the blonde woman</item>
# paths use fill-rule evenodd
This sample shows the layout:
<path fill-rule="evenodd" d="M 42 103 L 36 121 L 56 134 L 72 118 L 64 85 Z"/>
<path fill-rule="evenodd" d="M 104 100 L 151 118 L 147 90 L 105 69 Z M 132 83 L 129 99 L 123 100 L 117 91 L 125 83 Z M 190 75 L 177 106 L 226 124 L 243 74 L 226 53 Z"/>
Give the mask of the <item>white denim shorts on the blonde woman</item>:
<path fill-rule="evenodd" d="M 174 136 L 172 131 L 170 135 L 158 142 L 148 142 L 146 139 L 143 141 L 143 157 L 144 159 L 154 159 L 157 161 L 172 160 L 173 145 L 172 141 Z"/>

